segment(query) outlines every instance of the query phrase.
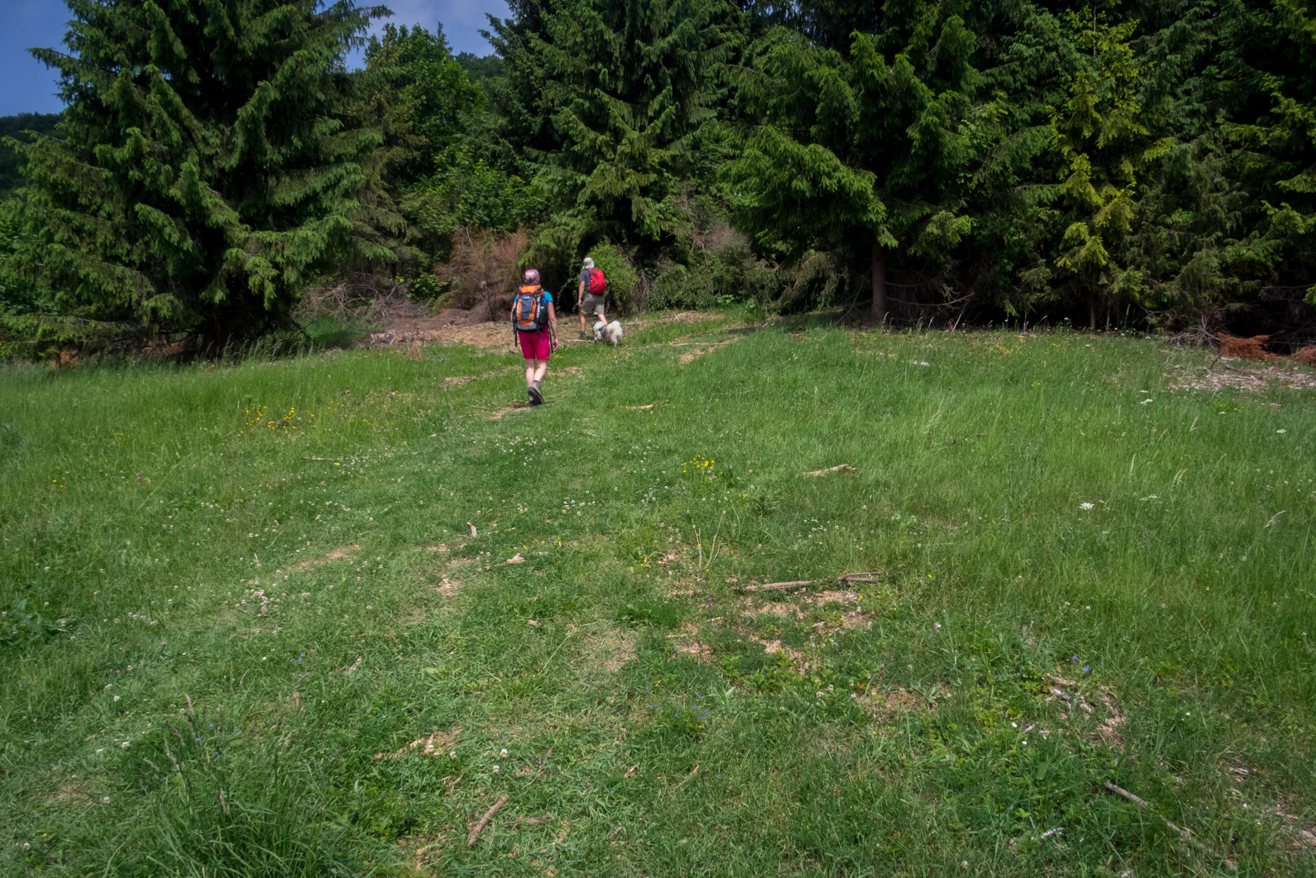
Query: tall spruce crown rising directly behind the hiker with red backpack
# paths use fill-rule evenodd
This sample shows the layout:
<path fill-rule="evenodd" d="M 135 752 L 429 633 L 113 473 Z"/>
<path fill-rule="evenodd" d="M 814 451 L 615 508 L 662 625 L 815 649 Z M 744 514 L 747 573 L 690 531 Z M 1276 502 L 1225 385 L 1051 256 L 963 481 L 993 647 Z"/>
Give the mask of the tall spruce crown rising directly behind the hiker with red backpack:
<path fill-rule="evenodd" d="M 561 150 L 545 187 L 557 205 L 624 244 L 675 232 L 670 196 L 690 138 L 715 115 L 724 0 L 567 0 L 529 47 L 544 66 Z"/>

